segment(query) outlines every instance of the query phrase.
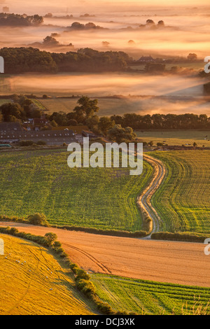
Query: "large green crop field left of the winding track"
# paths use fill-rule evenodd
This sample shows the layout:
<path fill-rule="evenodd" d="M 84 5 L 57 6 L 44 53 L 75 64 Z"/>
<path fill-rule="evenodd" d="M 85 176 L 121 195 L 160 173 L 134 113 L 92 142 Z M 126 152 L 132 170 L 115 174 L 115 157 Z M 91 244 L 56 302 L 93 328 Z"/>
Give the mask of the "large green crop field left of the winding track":
<path fill-rule="evenodd" d="M 137 195 L 153 168 L 130 176 L 127 168 L 74 168 L 64 150 L 1 153 L 0 214 L 40 212 L 49 223 L 111 230 L 141 230 Z"/>

